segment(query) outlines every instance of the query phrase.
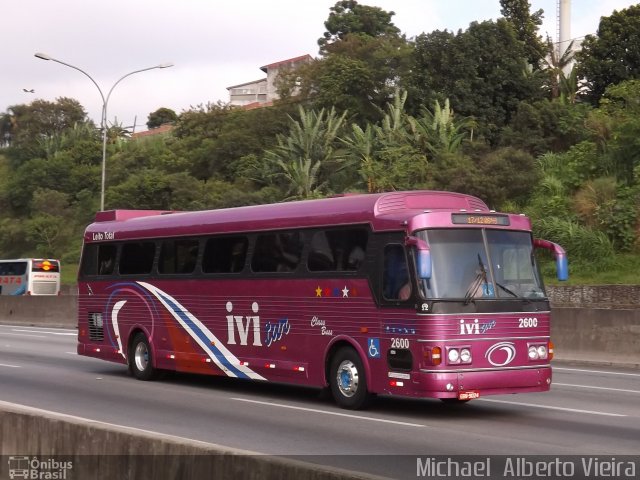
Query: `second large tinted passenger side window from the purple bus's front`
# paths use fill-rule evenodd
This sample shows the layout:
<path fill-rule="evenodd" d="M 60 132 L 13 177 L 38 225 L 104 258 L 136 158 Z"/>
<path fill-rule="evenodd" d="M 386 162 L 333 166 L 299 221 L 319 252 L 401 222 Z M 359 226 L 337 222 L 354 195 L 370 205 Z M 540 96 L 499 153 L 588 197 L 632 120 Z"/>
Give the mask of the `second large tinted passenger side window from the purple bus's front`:
<path fill-rule="evenodd" d="M 283 232 L 260 235 L 251 260 L 254 272 L 292 272 L 302 253 L 302 234 Z"/>

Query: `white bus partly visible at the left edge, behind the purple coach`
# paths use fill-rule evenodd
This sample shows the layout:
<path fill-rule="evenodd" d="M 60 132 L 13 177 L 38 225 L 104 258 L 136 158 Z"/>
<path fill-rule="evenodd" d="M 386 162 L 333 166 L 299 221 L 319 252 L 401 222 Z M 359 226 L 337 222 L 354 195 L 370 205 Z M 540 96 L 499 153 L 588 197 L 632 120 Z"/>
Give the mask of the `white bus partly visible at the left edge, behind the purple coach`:
<path fill-rule="evenodd" d="M 45 258 L 0 260 L 0 295 L 60 294 L 60 261 Z"/>

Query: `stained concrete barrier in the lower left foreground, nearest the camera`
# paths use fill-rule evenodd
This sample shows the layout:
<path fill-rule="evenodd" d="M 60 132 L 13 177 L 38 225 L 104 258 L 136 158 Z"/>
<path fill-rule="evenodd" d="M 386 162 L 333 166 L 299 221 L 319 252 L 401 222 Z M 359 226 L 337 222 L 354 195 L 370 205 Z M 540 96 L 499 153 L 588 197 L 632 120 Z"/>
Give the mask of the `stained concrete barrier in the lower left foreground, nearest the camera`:
<path fill-rule="evenodd" d="M 20 478 L 371 479 L 338 468 L 259 455 L 0 401 L 0 478 L 20 458 L 37 472 Z M 7 458 L 7 457 L 5 457 Z M 36 462 L 33 462 L 33 459 Z M 28 462 L 28 463 L 27 463 Z M 35 466 L 37 468 L 32 468 Z M 59 473 L 57 476 L 52 474 Z M 383 477 L 377 477 L 382 479 Z"/>

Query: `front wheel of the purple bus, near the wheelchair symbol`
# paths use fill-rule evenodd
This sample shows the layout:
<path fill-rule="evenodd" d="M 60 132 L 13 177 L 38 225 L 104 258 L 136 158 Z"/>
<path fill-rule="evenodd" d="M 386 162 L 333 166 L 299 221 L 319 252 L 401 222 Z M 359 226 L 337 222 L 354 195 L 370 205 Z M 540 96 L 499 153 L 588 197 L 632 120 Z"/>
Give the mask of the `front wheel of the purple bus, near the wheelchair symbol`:
<path fill-rule="evenodd" d="M 364 365 L 357 352 L 342 347 L 331 359 L 329 385 L 333 398 L 342 408 L 358 410 L 370 400 Z"/>

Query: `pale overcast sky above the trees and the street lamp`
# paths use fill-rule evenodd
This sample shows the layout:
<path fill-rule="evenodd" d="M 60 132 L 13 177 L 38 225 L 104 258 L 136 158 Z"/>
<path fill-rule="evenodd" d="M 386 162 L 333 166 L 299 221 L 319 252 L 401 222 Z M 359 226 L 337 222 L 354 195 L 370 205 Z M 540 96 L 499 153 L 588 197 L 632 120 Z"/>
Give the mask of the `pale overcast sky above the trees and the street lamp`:
<path fill-rule="evenodd" d="M 545 12 L 540 34 L 556 37 L 556 0 L 529 0 Z M 35 99 L 74 98 L 96 123 L 103 101 L 81 72 L 34 56 L 45 53 L 85 71 L 107 97 L 109 123 L 146 130 L 161 107 L 180 114 L 228 102 L 227 87 L 260 78 L 260 67 L 304 54 L 317 40 L 336 0 L 20 0 L 2 6 L 0 114 Z M 500 17 L 499 0 L 359 0 L 393 11 L 407 37 L 457 32 L 473 21 Z M 601 16 L 636 2 L 573 0 L 571 36 L 597 31 Z M 28 91 L 24 91 L 28 90 Z M 33 92 L 30 92 L 33 90 Z"/>

